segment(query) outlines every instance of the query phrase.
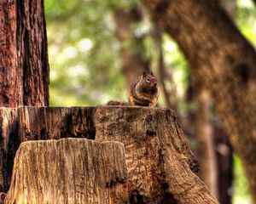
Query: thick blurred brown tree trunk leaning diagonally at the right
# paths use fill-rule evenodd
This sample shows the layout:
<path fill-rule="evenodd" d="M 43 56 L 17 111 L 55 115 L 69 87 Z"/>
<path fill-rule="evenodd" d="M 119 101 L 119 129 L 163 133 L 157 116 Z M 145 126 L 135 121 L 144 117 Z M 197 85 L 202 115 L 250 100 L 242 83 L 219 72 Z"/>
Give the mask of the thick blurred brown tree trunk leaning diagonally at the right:
<path fill-rule="evenodd" d="M 256 53 L 218 1 L 145 0 L 211 92 L 256 203 Z M 193 73 L 192 73 L 193 74 Z"/>

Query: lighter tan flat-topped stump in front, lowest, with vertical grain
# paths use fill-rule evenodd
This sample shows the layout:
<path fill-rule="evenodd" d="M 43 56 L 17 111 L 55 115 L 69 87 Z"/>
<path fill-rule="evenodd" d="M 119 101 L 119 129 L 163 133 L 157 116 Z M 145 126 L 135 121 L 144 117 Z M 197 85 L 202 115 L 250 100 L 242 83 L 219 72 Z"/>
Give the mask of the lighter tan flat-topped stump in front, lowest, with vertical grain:
<path fill-rule="evenodd" d="M 125 146 L 89 139 L 29 141 L 15 156 L 5 204 L 127 203 Z"/>

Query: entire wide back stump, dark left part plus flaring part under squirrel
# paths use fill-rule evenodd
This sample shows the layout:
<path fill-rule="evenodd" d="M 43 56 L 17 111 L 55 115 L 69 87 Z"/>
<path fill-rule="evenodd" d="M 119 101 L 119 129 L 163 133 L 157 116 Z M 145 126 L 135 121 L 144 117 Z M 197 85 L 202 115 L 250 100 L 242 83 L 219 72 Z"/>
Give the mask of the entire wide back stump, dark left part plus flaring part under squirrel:
<path fill-rule="evenodd" d="M 12 111 L 15 126 L 9 123 Z M 127 178 L 123 185 L 128 203 L 218 203 L 196 175 L 198 162 L 171 110 L 20 107 L 2 108 L 1 118 L 1 145 L 5 144 L 9 155 L 15 154 L 21 141 L 31 139 L 84 137 L 125 144 Z M 11 133 L 15 140 L 9 139 Z"/>

